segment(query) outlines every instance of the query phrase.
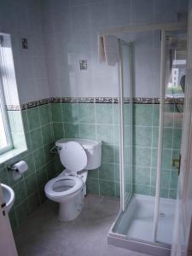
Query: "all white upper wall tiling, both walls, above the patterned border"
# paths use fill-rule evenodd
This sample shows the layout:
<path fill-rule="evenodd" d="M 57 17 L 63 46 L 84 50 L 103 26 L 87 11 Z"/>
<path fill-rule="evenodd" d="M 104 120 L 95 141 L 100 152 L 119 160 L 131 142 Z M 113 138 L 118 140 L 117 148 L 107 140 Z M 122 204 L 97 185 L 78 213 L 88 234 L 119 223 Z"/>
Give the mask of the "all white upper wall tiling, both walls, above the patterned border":
<path fill-rule="evenodd" d="M 187 10 L 187 2 L 0 0 L 0 32 L 11 34 L 20 102 L 48 96 L 118 96 L 117 67 L 98 62 L 97 32 L 105 27 L 176 21 L 177 12 Z M 21 48 L 21 38 L 28 39 L 29 49 Z M 132 35 L 136 96 L 159 96 L 160 40 L 156 38 L 152 33 Z M 80 60 L 88 61 L 87 71 L 79 71 Z"/>

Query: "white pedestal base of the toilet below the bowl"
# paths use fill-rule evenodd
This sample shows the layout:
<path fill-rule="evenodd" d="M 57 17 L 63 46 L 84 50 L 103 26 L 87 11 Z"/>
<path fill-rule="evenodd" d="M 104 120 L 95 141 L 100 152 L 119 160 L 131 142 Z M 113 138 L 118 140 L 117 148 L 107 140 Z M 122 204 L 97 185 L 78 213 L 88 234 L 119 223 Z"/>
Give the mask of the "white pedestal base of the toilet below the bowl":
<path fill-rule="evenodd" d="M 79 216 L 84 205 L 84 193 L 82 190 L 74 198 L 59 204 L 58 219 L 60 221 L 70 221 Z"/>

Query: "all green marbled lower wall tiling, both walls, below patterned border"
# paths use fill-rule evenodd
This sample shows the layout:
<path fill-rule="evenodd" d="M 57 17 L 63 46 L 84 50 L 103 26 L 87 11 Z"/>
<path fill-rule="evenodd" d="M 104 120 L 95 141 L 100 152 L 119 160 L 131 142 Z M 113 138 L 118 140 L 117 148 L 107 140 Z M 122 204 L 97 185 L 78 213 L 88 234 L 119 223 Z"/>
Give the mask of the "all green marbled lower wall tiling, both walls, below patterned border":
<path fill-rule="evenodd" d="M 178 106 L 180 109 L 183 106 Z M 125 170 L 129 178 L 129 104 L 125 104 Z M 12 116 L 17 115 L 12 111 Z M 0 180 L 15 190 L 15 204 L 9 213 L 13 228 L 44 202 L 44 184 L 63 170 L 58 157 L 49 153 L 61 137 L 102 140 L 102 166 L 89 172 L 88 193 L 119 197 L 119 105 L 117 103 L 48 103 L 22 110 L 28 150 L 0 165 Z M 182 113 L 166 104 L 161 196 L 175 198 Z M 133 189 L 154 195 L 158 143 L 159 104 L 134 104 Z M 29 170 L 18 181 L 6 166 L 26 160 Z M 129 180 L 128 180 L 129 182 Z"/>

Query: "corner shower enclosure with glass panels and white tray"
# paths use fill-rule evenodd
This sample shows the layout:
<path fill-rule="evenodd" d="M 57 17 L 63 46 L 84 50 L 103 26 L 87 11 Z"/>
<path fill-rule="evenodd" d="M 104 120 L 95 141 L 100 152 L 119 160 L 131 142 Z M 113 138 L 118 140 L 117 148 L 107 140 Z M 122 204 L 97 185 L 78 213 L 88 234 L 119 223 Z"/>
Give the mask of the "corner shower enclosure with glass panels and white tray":
<path fill-rule="evenodd" d="M 108 243 L 170 255 L 187 65 L 185 24 L 118 34 L 120 211 Z"/>

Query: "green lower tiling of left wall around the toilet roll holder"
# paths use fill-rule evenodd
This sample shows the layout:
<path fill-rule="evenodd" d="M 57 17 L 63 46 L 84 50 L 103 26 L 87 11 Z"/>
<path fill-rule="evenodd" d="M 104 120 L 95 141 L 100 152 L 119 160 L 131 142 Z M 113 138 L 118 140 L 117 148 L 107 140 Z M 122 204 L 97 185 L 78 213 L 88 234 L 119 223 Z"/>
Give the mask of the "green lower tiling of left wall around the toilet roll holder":
<path fill-rule="evenodd" d="M 12 111 L 17 115 L 17 111 Z M 44 184 L 55 176 L 53 156 L 49 148 L 53 142 L 49 104 L 22 111 L 28 150 L 0 165 L 0 181 L 15 191 L 15 204 L 9 212 L 12 227 L 18 226 L 28 214 L 44 202 Z M 13 180 L 7 166 L 26 160 L 29 169 L 22 178 Z"/>

